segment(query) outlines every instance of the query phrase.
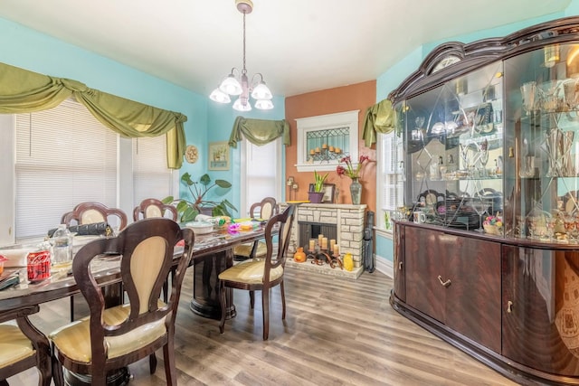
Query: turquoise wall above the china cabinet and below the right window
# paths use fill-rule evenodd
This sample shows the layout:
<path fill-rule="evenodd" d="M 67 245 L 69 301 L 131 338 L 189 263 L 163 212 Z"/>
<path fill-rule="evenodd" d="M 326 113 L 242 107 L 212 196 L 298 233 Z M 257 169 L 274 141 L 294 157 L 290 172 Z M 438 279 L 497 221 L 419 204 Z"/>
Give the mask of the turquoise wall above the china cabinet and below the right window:
<path fill-rule="evenodd" d="M 388 97 L 388 94 L 406 79 L 413 71 L 418 69 L 426 55 L 428 55 L 435 47 L 443 42 L 474 42 L 480 39 L 489 37 L 505 36 L 509 33 L 514 33 L 520 29 L 526 28 L 534 24 L 548 22 L 565 16 L 574 16 L 579 14 L 579 0 L 572 0 L 571 4 L 565 9 L 565 12 L 557 14 L 549 14 L 547 16 L 538 17 L 535 19 L 526 20 L 514 24 L 503 25 L 489 30 L 478 31 L 476 33 L 468 33 L 459 36 L 454 36 L 449 39 L 440 41 L 433 41 L 424 43 L 417 47 L 410 54 L 398 61 L 394 66 L 385 71 L 376 79 L 376 102 Z M 388 238 L 380 234 L 376 235 L 376 256 L 394 261 L 394 243 Z"/>

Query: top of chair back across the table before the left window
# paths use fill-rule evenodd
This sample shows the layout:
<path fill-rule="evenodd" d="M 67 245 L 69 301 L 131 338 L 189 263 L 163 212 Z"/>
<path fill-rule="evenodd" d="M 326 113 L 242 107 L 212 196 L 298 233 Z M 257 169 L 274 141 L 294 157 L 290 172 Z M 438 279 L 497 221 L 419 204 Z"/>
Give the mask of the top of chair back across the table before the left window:
<path fill-rule="evenodd" d="M 76 222 L 77 225 L 93 224 L 95 222 L 109 221 L 110 217 L 116 217 L 119 221 L 119 231 L 127 226 L 127 214 L 117 208 L 109 208 L 100 202 L 81 202 L 71 212 L 62 215 L 62 224 L 70 226 Z M 116 222 L 111 222 L 117 225 Z"/>

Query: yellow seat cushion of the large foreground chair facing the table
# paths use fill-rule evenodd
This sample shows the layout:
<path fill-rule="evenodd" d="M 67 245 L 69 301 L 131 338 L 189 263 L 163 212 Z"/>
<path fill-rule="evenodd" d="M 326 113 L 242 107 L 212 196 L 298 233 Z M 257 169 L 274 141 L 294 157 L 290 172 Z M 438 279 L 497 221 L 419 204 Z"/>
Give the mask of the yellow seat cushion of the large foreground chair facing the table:
<path fill-rule="evenodd" d="M 164 305 L 159 301 L 161 305 Z M 119 325 L 128 317 L 129 305 L 107 308 L 104 312 L 104 320 L 109 325 Z M 90 317 L 82 318 L 77 322 L 65 325 L 52 332 L 49 338 L 58 349 L 69 358 L 79 361 L 91 361 L 90 356 Z M 109 336 L 105 338 L 109 358 L 114 358 L 125 353 L 131 353 L 140 347 L 154 342 L 166 334 L 165 319 L 155 323 L 142 325 L 127 334 Z"/>

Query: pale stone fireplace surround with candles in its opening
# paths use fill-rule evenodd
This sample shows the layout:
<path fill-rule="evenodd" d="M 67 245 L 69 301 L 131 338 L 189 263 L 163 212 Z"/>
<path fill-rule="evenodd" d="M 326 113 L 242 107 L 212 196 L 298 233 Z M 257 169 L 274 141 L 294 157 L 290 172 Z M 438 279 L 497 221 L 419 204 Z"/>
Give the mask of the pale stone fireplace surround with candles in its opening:
<path fill-rule="evenodd" d="M 284 211 L 289 203 L 281 202 L 280 211 Z M 305 271 L 314 271 L 320 274 L 336 276 L 340 278 L 358 278 L 364 272 L 364 261 L 362 259 L 362 246 L 365 226 L 366 205 L 336 204 L 336 203 L 299 203 L 296 207 L 296 217 L 294 218 L 289 239 L 288 256 L 286 266 Z M 356 259 L 360 259 L 360 267 L 353 271 L 346 271 L 339 267 L 330 268 L 324 264 L 318 266 L 311 264 L 310 260 L 305 263 L 293 261 L 293 254 L 298 247 L 304 247 L 307 253 L 308 241 L 299 240 L 299 225 L 303 223 L 316 223 L 336 225 L 337 239 L 340 256 L 351 253 Z"/>

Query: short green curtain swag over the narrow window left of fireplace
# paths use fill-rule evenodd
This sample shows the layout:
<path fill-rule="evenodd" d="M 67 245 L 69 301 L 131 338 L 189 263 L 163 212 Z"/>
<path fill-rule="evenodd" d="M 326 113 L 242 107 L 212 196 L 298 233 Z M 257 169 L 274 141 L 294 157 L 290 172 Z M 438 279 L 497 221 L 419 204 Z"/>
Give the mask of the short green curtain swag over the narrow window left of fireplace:
<path fill-rule="evenodd" d="M 235 118 L 232 135 L 229 137 L 229 146 L 235 148 L 237 143 L 245 137 L 252 144 L 262 146 L 278 137 L 283 137 L 283 145 L 289 146 L 289 124 L 285 119 L 249 119 Z"/>

